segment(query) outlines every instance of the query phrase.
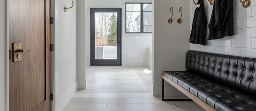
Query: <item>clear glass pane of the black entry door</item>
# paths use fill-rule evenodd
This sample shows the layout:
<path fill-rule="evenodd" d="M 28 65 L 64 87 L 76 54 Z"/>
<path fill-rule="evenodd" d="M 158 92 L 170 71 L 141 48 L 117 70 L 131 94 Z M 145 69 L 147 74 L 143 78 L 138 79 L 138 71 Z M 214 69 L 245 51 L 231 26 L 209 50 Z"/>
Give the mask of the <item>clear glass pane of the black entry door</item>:
<path fill-rule="evenodd" d="M 117 12 L 95 13 L 95 59 L 118 59 Z"/>

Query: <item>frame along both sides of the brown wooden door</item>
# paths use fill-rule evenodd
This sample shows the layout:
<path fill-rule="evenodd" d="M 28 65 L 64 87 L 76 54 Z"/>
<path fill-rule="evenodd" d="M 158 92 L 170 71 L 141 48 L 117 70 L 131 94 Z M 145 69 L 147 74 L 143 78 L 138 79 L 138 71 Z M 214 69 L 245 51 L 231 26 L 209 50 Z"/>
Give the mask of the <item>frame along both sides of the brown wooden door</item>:
<path fill-rule="evenodd" d="M 52 17 L 54 15 L 54 12 L 55 12 L 55 0 L 45 0 L 46 2 L 48 1 L 48 5 L 45 5 L 46 7 L 49 8 L 49 12 L 48 14 L 46 13 L 46 17 L 48 17 L 48 19 L 45 19 L 47 22 L 49 22 L 49 19 L 50 17 Z M 5 31 L 5 35 L 6 35 L 6 39 L 5 39 L 5 48 L 6 51 L 5 51 L 5 58 L 6 58 L 6 61 L 5 61 L 5 111 L 10 111 L 10 60 L 9 60 L 9 49 L 10 49 L 10 20 L 9 20 L 9 17 L 10 17 L 10 1 L 9 0 L 4 0 L 4 4 L 6 4 L 5 6 L 5 15 L 6 15 L 6 18 L 5 18 L 5 21 L 7 21 L 5 23 L 5 27 L 6 27 L 6 31 Z M 57 7 L 57 6 L 56 6 Z M 49 27 L 49 30 L 48 30 L 48 34 L 45 34 L 45 36 L 47 37 L 47 35 L 49 36 L 48 38 L 46 38 L 46 49 L 49 49 L 50 46 L 49 44 L 52 44 L 55 38 L 55 25 L 45 25 L 45 27 Z M 45 30 L 46 31 L 46 30 Z M 48 45 L 48 46 L 47 46 Z M 50 84 L 50 92 L 53 93 L 55 91 L 55 73 L 53 73 L 53 71 L 55 71 L 55 68 L 53 67 L 54 64 L 54 54 L 55 54 L 55 51 L 51 52 L 50 49 L 46 52 L 46 55 L 48 54 L 48 62 L 46 62 L 46 65 L 48 64 L 49 66 L 47 68 L 48 69 L 48 72 L 49 72 L 49 76 L 50 76 L 50 81 L 48 84 Z M 47 59 L 46 59 L 47 60 Z M 47 69 L 46 69 L 47 70 Z M 50 95 L 48 95 L 50 97 Z M 55 100 L 55 99 L 54 99 Z M 52 111 L 55 111 L 55 104 L 53 104 L 55 101 L 51 101 L 51 109 Z"/>

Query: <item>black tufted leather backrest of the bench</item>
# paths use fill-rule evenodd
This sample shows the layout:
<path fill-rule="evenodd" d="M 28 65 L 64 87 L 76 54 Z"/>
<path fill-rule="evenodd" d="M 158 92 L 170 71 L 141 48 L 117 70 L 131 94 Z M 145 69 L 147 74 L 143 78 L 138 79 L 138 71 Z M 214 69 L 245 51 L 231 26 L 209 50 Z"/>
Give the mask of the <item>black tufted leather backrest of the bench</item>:
<path fill-rule="evenodd" d="M 256 93 L 256 59 L 189 50 L 186 68 L 195 74 Z"/>

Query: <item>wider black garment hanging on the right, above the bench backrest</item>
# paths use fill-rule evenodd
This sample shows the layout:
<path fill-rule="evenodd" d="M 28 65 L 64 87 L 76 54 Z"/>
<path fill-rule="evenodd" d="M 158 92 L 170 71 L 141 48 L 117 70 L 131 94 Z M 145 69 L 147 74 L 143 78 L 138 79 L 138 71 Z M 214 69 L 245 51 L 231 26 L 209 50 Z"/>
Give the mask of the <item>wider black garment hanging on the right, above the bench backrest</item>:
<path fill-rule="evenodd" d="M 207 40 L 233 36 L 233 1 L 215 0 Z"/>

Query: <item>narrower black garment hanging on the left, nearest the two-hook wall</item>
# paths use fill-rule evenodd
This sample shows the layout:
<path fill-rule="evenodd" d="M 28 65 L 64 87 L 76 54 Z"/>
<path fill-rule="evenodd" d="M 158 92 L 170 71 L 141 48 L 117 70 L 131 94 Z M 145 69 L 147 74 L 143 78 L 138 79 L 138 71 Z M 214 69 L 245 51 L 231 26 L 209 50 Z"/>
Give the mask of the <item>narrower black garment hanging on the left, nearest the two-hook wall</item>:
<path fill-rule="evenodd" d="M 190 43 L 206 44 L 207 16 L 204 9 L 204 0 L 198 0 L 198 7 L 194 11 L 194 20 L 190 33 Z"/>

